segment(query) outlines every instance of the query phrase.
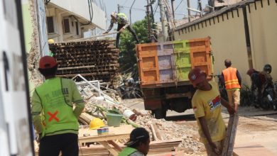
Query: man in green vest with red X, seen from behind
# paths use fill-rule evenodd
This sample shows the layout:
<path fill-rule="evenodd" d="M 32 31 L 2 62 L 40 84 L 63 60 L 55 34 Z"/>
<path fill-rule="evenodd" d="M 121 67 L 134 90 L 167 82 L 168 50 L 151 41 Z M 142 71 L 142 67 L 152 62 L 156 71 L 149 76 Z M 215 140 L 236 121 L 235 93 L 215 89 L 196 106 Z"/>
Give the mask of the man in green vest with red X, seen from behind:
<path fill-rule="evenodd" d="M 77 156 L 78 117 L 85 107 L 75 82 L 55 77 L 58 64 L 50 56 L 40 58 L 39 68 L 45 82 L 36 87 L 32 96 L 32 118 L 38 141 L 40 156 Z M 73 104 L 75 108 L 73 108 Z"/>

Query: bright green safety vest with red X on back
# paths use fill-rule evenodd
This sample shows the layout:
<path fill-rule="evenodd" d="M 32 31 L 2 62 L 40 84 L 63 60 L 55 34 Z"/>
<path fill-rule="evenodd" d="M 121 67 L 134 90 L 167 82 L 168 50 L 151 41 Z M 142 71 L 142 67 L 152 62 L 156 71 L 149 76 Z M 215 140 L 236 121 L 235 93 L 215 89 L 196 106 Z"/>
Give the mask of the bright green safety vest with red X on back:
<path fill-rule="evenodd" d="M 55 77 L 47 79 L 36 88 L 43 108 L 43 134 L 51 135 L 63 131 L 78 131 L 79 123 L 73 113 L 72 104 L 67 104 L 65 96 L 68 89 L 63 88 L 63 79 Z"/>

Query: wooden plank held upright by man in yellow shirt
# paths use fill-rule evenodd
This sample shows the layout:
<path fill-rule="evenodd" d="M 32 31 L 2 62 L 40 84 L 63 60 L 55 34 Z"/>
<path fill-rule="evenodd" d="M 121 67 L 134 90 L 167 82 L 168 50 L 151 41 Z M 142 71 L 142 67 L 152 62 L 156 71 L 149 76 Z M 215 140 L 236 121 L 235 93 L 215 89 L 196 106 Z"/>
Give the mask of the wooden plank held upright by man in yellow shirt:
<path fill-rule="evenodd" d="M 234 140 L 236 138 L 237 133 L 237 123 L 239 121 L 239 115 L 234 114 L 230 115 L 228 128 L 227 128 L 227 135 L 224 140 L 222 156 L 232 156 L 233 148 L 234 148 Z"/>

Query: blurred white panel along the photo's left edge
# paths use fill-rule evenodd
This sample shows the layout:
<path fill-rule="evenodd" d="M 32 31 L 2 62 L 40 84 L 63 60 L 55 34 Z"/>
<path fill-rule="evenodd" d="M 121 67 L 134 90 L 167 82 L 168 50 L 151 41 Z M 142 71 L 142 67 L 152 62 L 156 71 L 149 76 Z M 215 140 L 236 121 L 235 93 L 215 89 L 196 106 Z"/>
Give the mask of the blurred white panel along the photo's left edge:
<path fill-rule="evenodd" d="M 33 128 L 20 0 L 0 1 L 0 156 L 31 156 Z"/>

